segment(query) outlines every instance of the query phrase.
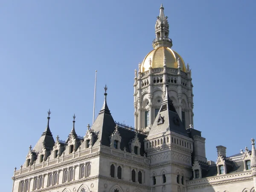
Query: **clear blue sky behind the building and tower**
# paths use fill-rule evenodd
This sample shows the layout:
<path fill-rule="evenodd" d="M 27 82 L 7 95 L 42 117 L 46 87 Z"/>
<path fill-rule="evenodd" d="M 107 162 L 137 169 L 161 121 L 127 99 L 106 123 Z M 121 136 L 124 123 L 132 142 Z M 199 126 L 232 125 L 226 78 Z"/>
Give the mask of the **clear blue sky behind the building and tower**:
<path fill-rule="evenodd" d="M 52 111 L 54 138 L 66 140 L 76 113 L 76 132 L 92 123 L 108 86 L 116 121 L 134 125 L 134 69 L 153 48 L 163 3 L 173 49 L 192 68 L 194 128 L 206 138 L 208 160 L 216 145 L 227 155 L 251 148 L 255 133 L 254 0 L 1 1 L 0 117 L 2 191 L 24 163 Z M 254 123 L 253 123 L 254 120 Z"/>

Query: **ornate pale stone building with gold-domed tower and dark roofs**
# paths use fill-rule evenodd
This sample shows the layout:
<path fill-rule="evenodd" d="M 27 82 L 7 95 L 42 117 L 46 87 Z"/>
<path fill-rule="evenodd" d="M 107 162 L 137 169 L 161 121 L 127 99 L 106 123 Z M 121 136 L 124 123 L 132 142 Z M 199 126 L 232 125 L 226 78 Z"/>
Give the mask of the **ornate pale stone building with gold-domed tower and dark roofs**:
<path fill-rule="evenodd" d="M 84 137 L 73 128 L 54 140 L 47 127 L 14 171 L 12 192 L 255 192 L 256 151 L 207 161 L 205 138 L 193 128 L 191 70 L 171 49 L 163 6 L 154 50 L 134 78 L 135 127 L 116 123 L 105 100 Z"/>

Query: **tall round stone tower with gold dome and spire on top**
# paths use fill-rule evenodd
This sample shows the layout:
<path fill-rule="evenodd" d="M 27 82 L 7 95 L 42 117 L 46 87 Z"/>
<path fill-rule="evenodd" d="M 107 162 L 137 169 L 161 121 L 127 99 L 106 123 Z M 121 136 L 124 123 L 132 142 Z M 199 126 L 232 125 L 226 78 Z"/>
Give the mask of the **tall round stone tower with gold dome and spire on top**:
<path fill-rule="evenodd" d="M 185 128 L 193 124 L 193 93 L 191 70 L 181 56 L 172 50 L 169 38 L 169 23 L 161 4 L 155 25 L 156 38 L 134 78 L 134 123 L 135 128 L 149 131 L 166 95 L 169 96 Z"/>

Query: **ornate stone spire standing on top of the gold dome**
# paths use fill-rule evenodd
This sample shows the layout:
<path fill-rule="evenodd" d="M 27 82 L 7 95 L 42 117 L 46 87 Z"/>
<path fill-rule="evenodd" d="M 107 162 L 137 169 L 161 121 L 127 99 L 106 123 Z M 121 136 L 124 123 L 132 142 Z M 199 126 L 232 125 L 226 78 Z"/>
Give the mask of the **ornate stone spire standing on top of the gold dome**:
<path fill-rule="evenodd" d="M 172 39 L 169 38 L 169 23 L 163 13 L 163 4 L 160 6 L 160 14 L 157 16 L 157 22 L 155 25 L 156 38 L 153 41 L 153 47 L 172 47 Z"/>

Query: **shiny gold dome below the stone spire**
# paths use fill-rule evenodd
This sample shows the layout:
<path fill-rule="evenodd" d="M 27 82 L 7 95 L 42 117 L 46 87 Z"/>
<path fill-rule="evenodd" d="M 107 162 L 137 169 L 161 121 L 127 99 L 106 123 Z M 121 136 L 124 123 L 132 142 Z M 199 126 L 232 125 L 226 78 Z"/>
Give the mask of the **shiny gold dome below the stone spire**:
<path fill-rule="evenodd" d="M 149 59 L 151 59 L 151 67 L 154 68 L 161 68 L 163 67 L 163 58 L 166 57 L 166 67 L 175 68 L 177 69 L 177 59 L 180 58 L 180 68 L 182 71 L 186 72 L 186 67 L 183 59 L 181 56 L 175 52 L 174 50 L 170 49 L 169 47 L 158 47 L 146 55 L 142 64 L 141 64 L 141 72 L 145 72 L 150 67 Z"/>

